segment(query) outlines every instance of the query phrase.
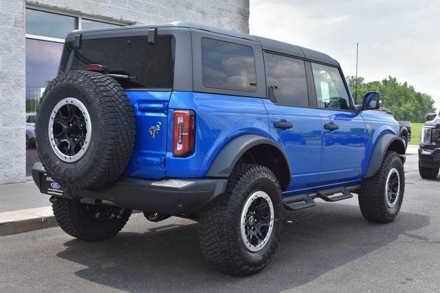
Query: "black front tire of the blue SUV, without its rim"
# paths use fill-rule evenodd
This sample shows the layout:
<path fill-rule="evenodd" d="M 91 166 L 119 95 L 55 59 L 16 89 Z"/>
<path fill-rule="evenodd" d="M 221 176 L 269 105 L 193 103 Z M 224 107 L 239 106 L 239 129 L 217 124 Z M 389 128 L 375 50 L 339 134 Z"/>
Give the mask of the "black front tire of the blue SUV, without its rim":
<path fill-rule="evenodd" d="M 395 205 L 389 207 L 386 200 L 386 181 L 392 169 L 399 174 L 399 196 Z M 359 207 L 366 220 L 375 223 L 388 223 L 395 219 L 404 200 L 405 172 L 404 165 L 396 152 L 386 152 L 379 171 L 361 183 Z"/>

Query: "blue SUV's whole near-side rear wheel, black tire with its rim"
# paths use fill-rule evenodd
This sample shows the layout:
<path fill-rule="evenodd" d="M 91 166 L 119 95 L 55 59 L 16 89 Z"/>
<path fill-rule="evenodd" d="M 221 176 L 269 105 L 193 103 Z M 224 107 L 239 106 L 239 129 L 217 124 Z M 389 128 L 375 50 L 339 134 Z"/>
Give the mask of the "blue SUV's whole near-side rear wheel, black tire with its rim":
<path fill-rule="evenodd" d="M 239 165 L 225 195 L 201 213 L 199 223 L 201 250 L 214 266 L 241 276 L 260 272 L 274 256 L 283 230 L 278 179 L 267 167 Z"/>

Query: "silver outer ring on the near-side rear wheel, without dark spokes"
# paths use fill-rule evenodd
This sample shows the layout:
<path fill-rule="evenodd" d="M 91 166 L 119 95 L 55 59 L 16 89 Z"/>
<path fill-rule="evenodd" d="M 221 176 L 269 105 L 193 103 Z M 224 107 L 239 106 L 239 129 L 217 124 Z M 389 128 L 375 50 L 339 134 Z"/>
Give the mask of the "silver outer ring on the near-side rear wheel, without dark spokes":
<path fill-rule="evenodd" d="M 248 237 L 246 235 L 246 225 L 248 224 L 248 222 L 251 222 L 249 221 L 250 219 L 252 219 L 252 224 L 256 222 L 254 216 L 251 215 L 250 217 L 248 217 L 248 211 L 252 202 L 254 202 L 254 200 L 257 200 L 258 198 L 262 198 L 262 200 L 265 200 L 265 202 L 267 202 L 267 205 L 269 206 L 270 209 L 270 215 L 269 215 L 270 221 L 264 239 L 262 239 L 261 242 L 259 242 L 259 244 L 254 245 L 250 243 L 248 240 Z M 240 218 L 241 241 L 243 242 L 243 245 L 247 250 L 254 253 L 256 251 L 263 249 L 263 247 L 267 244 L 267 242 L 269 242 L 273 230 L 274 230 L 274 204 L 272 203 L 270 196 L 266 194 L 264 191 L 255 191 L 253 194 L 251 194 L 248 197 L 243 209 L 241 210 L 241 218 Z"/>

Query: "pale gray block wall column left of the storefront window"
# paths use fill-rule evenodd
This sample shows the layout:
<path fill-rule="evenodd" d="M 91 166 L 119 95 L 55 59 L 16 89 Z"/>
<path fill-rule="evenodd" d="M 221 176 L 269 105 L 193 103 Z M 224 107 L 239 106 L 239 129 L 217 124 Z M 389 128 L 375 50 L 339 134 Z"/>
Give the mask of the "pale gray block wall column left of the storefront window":
<path fill-rule="evenodd" d="M 0 0 L 0 183 L 25 180 L 25 3 Z"/>

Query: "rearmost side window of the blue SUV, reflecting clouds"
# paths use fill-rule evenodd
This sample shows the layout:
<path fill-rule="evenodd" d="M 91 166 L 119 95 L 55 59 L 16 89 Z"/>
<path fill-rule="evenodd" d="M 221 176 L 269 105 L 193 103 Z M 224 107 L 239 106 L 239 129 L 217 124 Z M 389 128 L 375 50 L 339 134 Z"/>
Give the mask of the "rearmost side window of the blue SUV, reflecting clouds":
<path fill-rule="evenodd" d="M 250 46 L 201 38 L 203 86 L 256 92 L 254 50 Z"/>

